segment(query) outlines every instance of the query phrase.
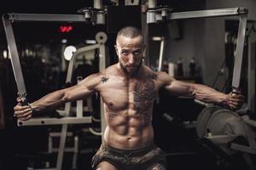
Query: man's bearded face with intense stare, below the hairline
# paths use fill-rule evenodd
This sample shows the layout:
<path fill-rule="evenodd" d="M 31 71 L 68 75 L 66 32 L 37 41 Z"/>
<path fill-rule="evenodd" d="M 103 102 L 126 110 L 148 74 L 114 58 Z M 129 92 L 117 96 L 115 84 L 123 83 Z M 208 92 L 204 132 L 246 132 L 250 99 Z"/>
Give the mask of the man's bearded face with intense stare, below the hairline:
<path fill-rule="evenodd" d="M 116 42 L 116 53 L 119 65 L 126 73 L 134 75 L 143 63 L 143 37 L 119 36 Z"/>

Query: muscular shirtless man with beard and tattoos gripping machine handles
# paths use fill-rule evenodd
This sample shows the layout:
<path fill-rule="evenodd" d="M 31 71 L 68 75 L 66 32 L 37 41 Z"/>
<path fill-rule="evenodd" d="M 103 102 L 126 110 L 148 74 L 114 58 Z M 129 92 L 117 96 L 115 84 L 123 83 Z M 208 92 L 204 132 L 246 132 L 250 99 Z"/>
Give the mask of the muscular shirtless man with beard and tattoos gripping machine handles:
<path fill-rule="evenodd" d="M 33 113 L 55 109 L 64 102 L 99 93 L 104 101 L 107 127 L 104 142 L 92 159 L 97 170 L 166 169 L 166 156 L 154 145 L 151 124 L 154 99 L 160 88 L 170 94 L 191 96 L 204 102 L 238 108 L 241 94 L 223 94 L 205 85 L 177 81 L 165 72 L 143 65 L 141 31 L 125 27 L 116 38 L 117 64 L 86 77 L 81 83 L 47 94 L 30 105 L 15 106 L 15 116 L 26 121 Z M 18 102 L 20 100 L 18 99 Z"/>

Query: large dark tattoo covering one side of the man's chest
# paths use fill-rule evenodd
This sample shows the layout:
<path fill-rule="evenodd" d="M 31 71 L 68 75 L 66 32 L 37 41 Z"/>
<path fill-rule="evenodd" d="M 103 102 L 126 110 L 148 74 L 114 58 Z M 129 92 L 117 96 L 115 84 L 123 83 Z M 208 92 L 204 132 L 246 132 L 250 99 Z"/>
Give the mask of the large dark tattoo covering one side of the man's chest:
<path fill-rule="evenodd" d="M 133 92 L 134 98 L 134 110 L 137 114 L 144 117 L 144 125 L 149 125 L 151 120 L 150 108 L 153 105 L 154 99 L 156 98 L 156 90 L 154 81 L 157 75 L 150 74 L 145 81 L 136 82 Z"/>

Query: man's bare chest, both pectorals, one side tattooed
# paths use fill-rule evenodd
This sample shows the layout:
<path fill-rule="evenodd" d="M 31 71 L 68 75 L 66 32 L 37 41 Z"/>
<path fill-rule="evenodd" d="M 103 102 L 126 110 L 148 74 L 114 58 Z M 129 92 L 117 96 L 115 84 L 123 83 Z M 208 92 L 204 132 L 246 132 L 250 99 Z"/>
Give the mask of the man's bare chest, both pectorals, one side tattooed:
<path fill-rule="evenodd" d="M 108 109 L 112 111 L 146 109 L 153 104 L 157 88 L 154 80 L 116 79 L 103 84 L 100 94 Z"/>

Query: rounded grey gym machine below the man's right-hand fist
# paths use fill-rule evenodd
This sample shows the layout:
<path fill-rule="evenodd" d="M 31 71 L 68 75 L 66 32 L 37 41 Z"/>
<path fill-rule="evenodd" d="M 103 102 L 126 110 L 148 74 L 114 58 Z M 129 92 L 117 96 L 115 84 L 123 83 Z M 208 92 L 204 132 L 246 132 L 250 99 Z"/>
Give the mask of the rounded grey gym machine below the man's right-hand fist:
<path fill-rule="evenodd" d="M 256 133 L 253 127 L 256 127 L 256 122 L 249 116 L 240 116 L 216 106 L 206 107 L 196 120 L 198 137 L 209 139 L 228 155 L 233 155 L 237 150 L 256 154 Z M 236 142 L 238 138 L 239 143 Z"/>

